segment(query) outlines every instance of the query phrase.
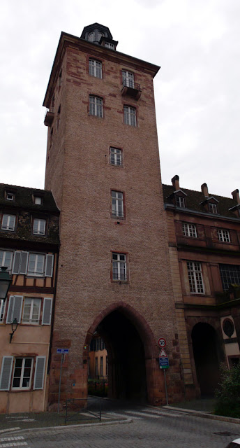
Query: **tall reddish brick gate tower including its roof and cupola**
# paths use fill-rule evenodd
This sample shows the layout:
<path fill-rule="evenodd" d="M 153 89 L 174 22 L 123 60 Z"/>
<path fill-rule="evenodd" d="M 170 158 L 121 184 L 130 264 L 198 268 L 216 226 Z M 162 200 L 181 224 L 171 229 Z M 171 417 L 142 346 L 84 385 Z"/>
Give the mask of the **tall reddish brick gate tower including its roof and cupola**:
<path fill-rule="evenodd" d="M 116 50 L 107 27 L 61 33 L 43 105 L 45 188 L 61 210 L 50 407 L 87 396 L 88 351 L 105 340 L 109 395 L 165 402 L 158 338 L 167 340 L 170 400 L 181 395 L 179 347 L 158 160 L 153 77 Z"/>

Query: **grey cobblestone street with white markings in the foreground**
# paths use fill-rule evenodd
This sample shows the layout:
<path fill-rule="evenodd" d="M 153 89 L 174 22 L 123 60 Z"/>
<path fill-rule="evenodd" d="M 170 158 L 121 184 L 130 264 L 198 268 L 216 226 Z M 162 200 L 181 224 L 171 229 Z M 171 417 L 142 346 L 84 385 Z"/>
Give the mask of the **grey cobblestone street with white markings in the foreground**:
<path fill-rule="evenodd" d="M 225 448 L 240 437 L 240 425 L 171 411 L 138 407 L 106 411 L 105 418 L 127 416 L 109 426 L 38 429 L 0 435 L 0 448 Z"/>

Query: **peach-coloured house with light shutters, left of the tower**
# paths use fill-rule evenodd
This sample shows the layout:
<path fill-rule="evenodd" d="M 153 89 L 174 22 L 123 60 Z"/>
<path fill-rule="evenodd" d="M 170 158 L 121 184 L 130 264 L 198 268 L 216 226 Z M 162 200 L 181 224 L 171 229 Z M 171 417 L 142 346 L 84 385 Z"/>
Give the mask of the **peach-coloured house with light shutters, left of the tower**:
<path fill-rule="evenodd" d="M 1 183 L 0 267 L 8 268 L 12 281 L 7 299 L 0 300 L 0 412 L 47 409 L 58 251 L 52 193 Z"/>

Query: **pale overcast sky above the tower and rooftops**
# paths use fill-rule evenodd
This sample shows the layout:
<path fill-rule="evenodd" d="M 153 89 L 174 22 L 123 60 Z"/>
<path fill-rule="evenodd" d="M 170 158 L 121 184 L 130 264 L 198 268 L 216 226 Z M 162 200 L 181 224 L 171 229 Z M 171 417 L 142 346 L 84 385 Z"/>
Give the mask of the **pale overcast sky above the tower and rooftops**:
<path fill-rule="evenodd" d="M 44 188 L 43 98 L 61 31 L 110 28 L 117 50 L 161 66 L 163 183 L 231 197 L 239 182 L 240 0 L 1 0 L 0 182 Z"/>

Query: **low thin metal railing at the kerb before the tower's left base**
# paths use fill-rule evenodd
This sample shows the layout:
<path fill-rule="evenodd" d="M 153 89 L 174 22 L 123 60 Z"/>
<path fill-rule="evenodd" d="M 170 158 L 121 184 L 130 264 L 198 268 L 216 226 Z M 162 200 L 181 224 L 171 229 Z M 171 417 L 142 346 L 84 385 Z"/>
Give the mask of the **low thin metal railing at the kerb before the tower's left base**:
<path fill-rule="evenodd" d="M 68 421 L 101 421 L 101 398 L 71 398 L 66 400 L 65 424 Z"/>

